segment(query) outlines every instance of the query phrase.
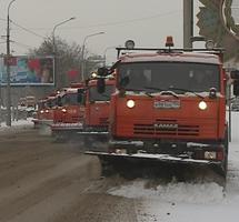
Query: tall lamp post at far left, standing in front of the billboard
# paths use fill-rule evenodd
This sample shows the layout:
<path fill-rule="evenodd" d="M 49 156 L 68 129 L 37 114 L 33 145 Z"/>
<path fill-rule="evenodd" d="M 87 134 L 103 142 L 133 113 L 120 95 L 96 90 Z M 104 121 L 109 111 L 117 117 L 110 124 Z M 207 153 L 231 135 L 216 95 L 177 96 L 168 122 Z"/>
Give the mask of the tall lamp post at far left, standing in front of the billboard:
<path fill-rule="evenodd" d="M 11 0 L 8 4 L 8 16 L 7 16 L 7 121 L 6 124 L 11 127 L 11 87 L 10 87 L 10 19 L 9 19 L 9 11 L 11 4 L 16 0 Z"/>

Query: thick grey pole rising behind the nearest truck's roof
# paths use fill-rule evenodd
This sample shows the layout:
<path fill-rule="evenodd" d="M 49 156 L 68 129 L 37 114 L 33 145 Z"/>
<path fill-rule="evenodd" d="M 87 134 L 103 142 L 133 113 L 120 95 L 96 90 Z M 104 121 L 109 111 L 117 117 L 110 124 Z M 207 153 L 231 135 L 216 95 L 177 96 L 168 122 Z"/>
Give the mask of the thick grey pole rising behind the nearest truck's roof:
<path fill-rule="evenodd" d="M 183 48 L 192 48 L 193 0 L 183 0 Z"/>

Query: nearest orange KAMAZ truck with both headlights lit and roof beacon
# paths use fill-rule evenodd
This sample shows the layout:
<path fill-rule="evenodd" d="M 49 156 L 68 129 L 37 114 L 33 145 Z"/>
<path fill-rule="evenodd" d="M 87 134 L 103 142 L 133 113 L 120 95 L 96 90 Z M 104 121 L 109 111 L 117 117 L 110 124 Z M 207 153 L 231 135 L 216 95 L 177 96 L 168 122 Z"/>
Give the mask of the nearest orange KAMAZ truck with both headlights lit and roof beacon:
<path fill-rule="evenodd" d="M 228 123 L 223 50 L 173 49 L 171 37 L 163 49 L 135 48 L 129 40 L 126 48 L 117 50 L 108 151 L 87 153 L 99 157 L 102 172 L 147 160 L 210 165 L 225 181 Z"/>

